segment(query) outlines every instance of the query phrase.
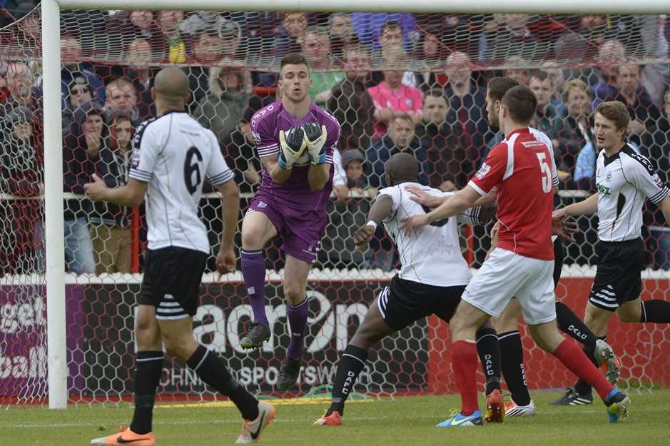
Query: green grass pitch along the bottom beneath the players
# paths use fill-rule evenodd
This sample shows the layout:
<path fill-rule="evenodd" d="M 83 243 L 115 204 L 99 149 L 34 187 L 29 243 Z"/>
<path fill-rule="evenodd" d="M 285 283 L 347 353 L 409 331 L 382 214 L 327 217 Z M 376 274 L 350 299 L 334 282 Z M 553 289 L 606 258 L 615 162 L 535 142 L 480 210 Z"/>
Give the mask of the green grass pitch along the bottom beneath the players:
<path fill-rule="evenodd" d="M 263 435 L 265 445 L 667 445 L 670 389 L 631 392 L 628 420 L 611 425 L 601 402 L 583 407 L 547 403 L 557 392 L 534 392 L 539 414 L 510 418 L 502 425 L 440 430 L 435 423 L 456 407 L 455 395 L 399 397 L 347 406 L 342 427 L 314 427 L 325 404 L 278 405 L 275 422 Z M 88 445 L 127 423 L 131 408 L 70 407 L 68 410 L 16 409 L 0 412 L 2 445 Z M 154 432 L 161 446 L 231 445 L 239 433 L 238 413 L 230 407 L 159 407 Z M 486 443 L 484 443 L 486 442 Z"/>

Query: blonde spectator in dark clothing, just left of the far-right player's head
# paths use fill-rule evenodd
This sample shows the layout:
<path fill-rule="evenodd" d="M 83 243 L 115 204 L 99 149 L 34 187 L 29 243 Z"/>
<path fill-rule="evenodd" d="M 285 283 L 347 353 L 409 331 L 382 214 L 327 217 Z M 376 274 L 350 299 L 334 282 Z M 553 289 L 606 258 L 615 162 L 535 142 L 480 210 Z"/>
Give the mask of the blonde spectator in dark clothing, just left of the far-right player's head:
<path fill-rule="evenodd" d="M 572 79 L 564 85 L 564 101 L 568 114 L 554 121 L 552 137 L 559 171 L 572 172 L 577 155 L 587 143 L 594 141 L 591 116 L 591 94 L 586 83 Z"/>

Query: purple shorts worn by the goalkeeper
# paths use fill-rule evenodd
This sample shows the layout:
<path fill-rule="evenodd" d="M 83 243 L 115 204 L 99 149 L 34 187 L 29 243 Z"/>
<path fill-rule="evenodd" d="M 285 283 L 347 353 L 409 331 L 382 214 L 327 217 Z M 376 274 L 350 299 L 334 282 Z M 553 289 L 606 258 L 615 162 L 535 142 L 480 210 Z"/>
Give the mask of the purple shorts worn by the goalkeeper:
<path fill-rule="evenodd" d="M 250 212 L 262 212 L 270 219 L 282 238 L 280 248 L 285 253 L 307 263 L 316 261 L 328 223 L 325 210 L 295 209 L 271 197 L 256 195 L 249 204 L 247 213 Z"/>

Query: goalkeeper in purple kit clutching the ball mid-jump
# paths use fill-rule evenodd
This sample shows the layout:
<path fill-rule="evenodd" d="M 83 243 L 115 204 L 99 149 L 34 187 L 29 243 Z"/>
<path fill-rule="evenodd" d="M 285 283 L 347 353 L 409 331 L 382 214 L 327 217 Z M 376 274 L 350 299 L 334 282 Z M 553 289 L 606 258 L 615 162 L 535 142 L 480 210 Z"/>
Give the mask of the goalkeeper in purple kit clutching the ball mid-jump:
<path fill-rule="evenodd" d="M 309 312 L 307 277 L 328 223 L 333 149 L 340 138 L 337 120 L 310 102 L 311 84 L 305 57 L 288 54 L 281 61 L 280 101 L 261 108 L 251 119 L 263 180 L 242 223 L 242 275 L 253 323 L 240 345 L 260 348 L 272 335 L 265 315 L 263 247 L 279 235 L 286 254 L 283 290 L 290 325 L 290 343 L 277 383 L 281 391 L 300 375 Z"/>

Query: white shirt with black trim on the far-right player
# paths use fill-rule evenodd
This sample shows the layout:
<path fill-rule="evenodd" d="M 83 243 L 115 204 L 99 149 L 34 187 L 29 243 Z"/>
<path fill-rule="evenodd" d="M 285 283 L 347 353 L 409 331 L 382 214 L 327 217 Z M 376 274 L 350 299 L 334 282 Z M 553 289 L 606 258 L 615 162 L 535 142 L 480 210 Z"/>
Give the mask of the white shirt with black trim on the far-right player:
<path fill-rule="evenodd" d="M 670 195 L 654 166 L 629 144 L 613 156 L 599 153 L 596 188 L 598 238 L 608 242 L 639 238 L 644 200 L 656 204 Z"/>

